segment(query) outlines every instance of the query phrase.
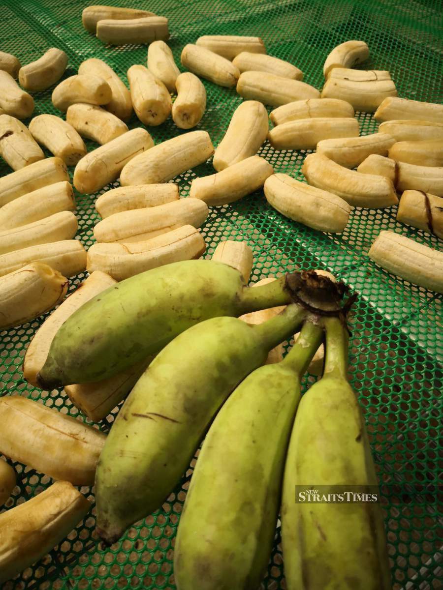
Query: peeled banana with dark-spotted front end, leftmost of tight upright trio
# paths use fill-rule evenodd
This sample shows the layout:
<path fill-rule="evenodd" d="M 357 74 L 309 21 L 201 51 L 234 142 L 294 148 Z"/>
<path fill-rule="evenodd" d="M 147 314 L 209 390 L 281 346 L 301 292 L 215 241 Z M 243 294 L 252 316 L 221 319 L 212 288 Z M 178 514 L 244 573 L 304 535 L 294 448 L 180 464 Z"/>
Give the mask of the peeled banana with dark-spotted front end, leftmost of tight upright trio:
<path fill-rule="evenodd" d="M 160 125 L 170 116 L 171 95 L 161 80 L 144 65 L 131 65 L 128 70 L 131 100 L 135 113 L 145 125 Z"/>

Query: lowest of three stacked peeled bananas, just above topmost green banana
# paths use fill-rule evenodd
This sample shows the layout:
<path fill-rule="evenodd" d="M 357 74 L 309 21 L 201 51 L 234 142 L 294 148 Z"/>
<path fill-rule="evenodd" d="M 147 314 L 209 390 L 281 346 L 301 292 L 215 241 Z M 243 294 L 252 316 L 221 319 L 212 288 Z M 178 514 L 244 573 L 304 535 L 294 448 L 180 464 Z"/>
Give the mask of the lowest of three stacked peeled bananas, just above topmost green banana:
<path fill-rule="evenodd" d="M 205 250 L 200 232 L 184 225 L 142 242 L 93 244 L 87 253 L 87 270 L 102 270 L 122 281 L 164 264 L 200 258 Z"/>

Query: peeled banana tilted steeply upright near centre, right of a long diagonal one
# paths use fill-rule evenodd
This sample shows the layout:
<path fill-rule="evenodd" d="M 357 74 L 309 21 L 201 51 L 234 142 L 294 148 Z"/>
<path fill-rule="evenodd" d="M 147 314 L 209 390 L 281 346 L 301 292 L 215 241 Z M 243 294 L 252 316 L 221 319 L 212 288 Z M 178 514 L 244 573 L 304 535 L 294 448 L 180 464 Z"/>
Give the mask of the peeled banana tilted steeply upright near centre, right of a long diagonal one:
<path fill-rule="evenodd" d="M 262 103 L 246 100 L 234 111 L 215 153 L 213 166 L 220 172 L 254 156 L 268 134 L 268 113 Z"/>

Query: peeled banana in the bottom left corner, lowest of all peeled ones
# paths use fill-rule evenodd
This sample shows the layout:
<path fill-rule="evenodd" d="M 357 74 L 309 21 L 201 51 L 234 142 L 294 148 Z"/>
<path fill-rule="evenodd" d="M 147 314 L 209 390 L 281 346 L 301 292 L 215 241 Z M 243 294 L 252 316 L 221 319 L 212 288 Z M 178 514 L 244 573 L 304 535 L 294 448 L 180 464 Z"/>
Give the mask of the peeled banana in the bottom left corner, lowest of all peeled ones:
<path fill-rule="evenodd" d="M 53 549 L 89 512 L 91 504 L 67 481 L 56 481 L 0 514 L 0 583 L 14 578 Z"/>

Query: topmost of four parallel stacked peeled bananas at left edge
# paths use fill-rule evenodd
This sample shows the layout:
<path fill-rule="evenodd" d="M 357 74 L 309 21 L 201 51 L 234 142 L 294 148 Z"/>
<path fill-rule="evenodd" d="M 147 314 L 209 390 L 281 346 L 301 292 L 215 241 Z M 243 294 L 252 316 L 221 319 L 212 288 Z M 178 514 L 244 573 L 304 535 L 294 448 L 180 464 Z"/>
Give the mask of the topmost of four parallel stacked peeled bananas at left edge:
<path fill-rule="evenodd" d="M 46 158 L 0 178 L 0 207 L 19 196 L 56 182 L 69 182 L 66 165 L 60 158 Z"/>

